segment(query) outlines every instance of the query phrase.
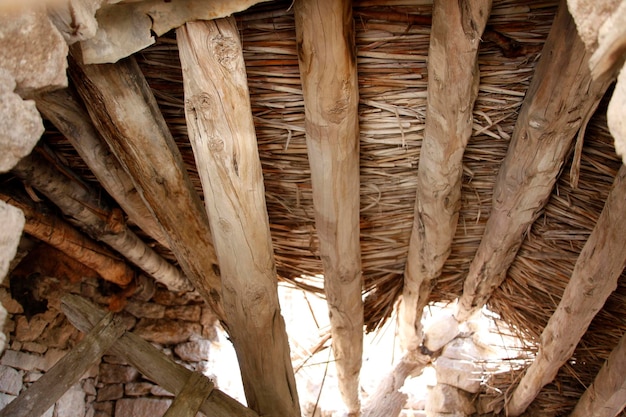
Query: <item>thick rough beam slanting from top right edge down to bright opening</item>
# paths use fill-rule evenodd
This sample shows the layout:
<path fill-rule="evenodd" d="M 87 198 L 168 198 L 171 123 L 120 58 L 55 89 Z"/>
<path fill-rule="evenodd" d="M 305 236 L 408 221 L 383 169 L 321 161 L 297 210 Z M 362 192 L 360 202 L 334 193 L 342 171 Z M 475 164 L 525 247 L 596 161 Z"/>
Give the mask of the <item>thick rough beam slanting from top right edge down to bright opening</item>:
<path fill-rule="evenodd" d="M 496 179 L 491 215 L 459 301 L 459 320 L 482 308 L 506 277 L 524 233 L 550 197 L 574 136 L 606 91 L 607 83 L 591 79 L 588 59 L 562 1 Z"/>

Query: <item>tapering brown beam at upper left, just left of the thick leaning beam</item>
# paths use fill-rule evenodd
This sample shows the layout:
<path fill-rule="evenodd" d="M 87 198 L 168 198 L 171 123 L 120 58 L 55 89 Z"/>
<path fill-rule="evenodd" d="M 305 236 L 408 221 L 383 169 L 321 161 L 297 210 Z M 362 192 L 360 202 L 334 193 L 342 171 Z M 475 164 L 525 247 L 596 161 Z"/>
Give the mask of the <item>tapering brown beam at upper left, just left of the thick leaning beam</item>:
<path fill-rule="evenodd" d="M 161 226 L 141 199 L 132 179 L 91 123 L 89 114 L 69 89 L 36 97 L 37 108 L 67 138 L 98 182 L 120 205 L 129 220 L 165 247 Z"/>

